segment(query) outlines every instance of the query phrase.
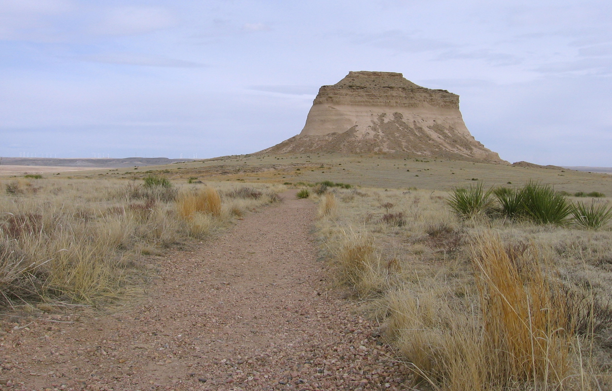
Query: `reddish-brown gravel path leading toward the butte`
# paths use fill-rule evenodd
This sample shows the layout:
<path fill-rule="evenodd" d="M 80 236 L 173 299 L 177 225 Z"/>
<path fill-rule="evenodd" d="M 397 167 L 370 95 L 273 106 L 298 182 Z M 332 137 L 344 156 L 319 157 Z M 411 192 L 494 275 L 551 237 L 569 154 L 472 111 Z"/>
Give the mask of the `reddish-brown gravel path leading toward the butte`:
<path fill-rule="evenodd" d="M 376 325 L 328 290 L 310 233 L 315 206 L 283 196 L 200 249 L 163 258 L 134 309 L 10 329 L 0 340 L 0 384 L 8 383 L 0 387 L 407 389 Z"/>

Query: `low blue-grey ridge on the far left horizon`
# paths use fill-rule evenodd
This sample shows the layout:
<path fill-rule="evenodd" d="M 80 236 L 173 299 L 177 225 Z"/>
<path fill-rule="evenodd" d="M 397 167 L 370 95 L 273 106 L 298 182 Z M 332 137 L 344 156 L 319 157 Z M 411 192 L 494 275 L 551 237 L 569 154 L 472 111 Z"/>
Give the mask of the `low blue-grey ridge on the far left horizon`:
<path fill-rule="evenodd" d="M 122 158 L 122 159 L 80 159 L 80 158 L 2 158 L 3 166 L 55 166 L 55 167 L 133 167 L 159 166 L 197 159 L 168 158 Z"/>

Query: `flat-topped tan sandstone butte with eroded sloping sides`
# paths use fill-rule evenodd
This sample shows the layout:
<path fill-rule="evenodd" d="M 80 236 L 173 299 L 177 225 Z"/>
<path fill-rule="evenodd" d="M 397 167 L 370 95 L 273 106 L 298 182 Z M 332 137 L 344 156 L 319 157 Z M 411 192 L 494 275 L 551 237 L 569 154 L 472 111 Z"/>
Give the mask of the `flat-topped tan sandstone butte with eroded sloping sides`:
<path fill-rule="evenodd" d="M 321 87 L 302 132 L 262 152 L 330 151 L 506 163 L 469 133 L 458 95 L 417 86 L 394 72 L 349 72 Z"/>

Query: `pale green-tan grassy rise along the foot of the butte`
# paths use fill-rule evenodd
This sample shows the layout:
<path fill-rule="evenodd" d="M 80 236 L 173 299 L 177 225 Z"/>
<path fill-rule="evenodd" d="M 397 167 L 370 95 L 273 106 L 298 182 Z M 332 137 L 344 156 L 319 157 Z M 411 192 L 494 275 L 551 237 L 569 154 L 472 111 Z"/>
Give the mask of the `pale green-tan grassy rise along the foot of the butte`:
<path fill-rule="evenodd" d="M 608 174 L 384 154 L 236 155 L 165 166 L 66 173 L 60 177 L 132 178 L 148 174 L 166 175 L 171 180 L 196 178 L 202 181 L 255 183 L 330 180 L 368 188 L 416 187 L 430 190 L 468 186 L 474 182 L 472 178 L 488 185 L 505 185 L 507 182 L 521 185 L 531 179 L 554 185 L 555 189 L 572 194 L 578 191 L 599 191 L 612 195 L 612 175 Z"/>

